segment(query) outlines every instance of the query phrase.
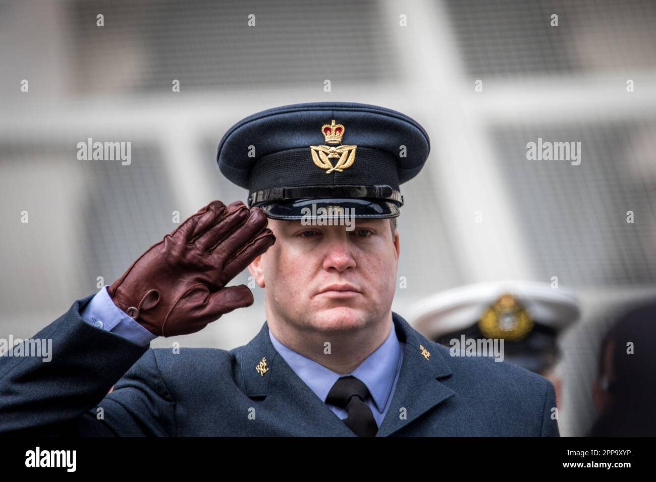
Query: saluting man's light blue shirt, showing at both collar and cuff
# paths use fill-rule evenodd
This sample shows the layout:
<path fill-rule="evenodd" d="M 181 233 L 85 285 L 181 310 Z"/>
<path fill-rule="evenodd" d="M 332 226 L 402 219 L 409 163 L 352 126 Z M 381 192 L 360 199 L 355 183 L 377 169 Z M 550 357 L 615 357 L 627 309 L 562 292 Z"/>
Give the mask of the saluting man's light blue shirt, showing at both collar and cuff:
<path fill-rule="evenodd" d="M 127 340 L 140 346 L 150 344 L 157 336 L 146 330 L 113 303 L 110 294 L 107 292 L 108 286 L 102 287 L 82 309 L 80 312 L 82 319 L 98 329 L 123 336 L 123 338 L 127 338 Z M 369 405 L 376 423 L 380 427 L 390 403 L 392 403 L 396 382 L 398 382 L 399 373 L 401 372 L 403 349 L 405 348 L 405 343 L 401 342 L 396 336 L 394 323 L 392 323 L 390 335 L 382 345 L 365 358 L 354 371 L 344 375 L 335 373 L 316 361 L 287 348 L 277 340 L 270 330 L 269 337 L 274 348 L 287 362 L 287 365 L 323 402 L 325 402 L 331 388 L 341 376 L 352 375 L 361 380 L 367 386 L 371 395 L 365 400 L 365 403 Z M 327 404 L 327 406 L 342 420 L 348 416 L 345 409 L 340 409 L 340 407 L 331 404 Z"/>

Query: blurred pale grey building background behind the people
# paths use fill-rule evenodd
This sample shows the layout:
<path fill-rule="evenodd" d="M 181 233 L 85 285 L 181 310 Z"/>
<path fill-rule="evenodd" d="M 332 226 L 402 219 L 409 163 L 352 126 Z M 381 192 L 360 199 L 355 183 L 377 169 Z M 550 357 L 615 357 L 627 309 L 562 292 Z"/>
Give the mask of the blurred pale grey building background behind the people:
<path fill-rule="evenodd" d="M 655 26 L 651 0 L 0 1 L 0 336 L 32 336 L 98 277 L 111 284 L 178 226 L 173 211 L 246 201 L 215 159 L 239 119 L 378 104 L 417 119 L 432 145 L 401 186 L 407 289 L 393 310 L 557 276 L 583 305 L 563 340 L 559 424 L 583 435 L 603 330 L 656 296 Z M 131 165 L 78 160 L 87 138 L 132 142 Z M 581 165 L 527 161 L 537 138 L 581 142 Z M 264 323 L 253 291 L 255 305 L 151 346 L 245 344 Z"/>

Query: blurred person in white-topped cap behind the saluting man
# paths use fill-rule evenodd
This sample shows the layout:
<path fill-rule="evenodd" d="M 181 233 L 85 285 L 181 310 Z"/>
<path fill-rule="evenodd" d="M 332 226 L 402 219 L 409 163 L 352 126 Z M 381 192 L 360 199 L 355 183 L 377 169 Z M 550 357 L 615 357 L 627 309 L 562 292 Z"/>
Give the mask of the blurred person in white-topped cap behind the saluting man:
<path fill-rule="evenodd" d="M 561 400 L 560 336 L 577 322 L 574 292 L 548 283 L 499 281 L 466 285 L 426 298 L 413 311 L 413 326 L 444 346 L 451 340 L 504 340 L 504 361 L 548 378 Z M 462 344 L 460 344 L 462 345 Z M 461 347 L 461 350 L 463 348 Z M 558 405 L 560 407 L 560 405 Z"/>

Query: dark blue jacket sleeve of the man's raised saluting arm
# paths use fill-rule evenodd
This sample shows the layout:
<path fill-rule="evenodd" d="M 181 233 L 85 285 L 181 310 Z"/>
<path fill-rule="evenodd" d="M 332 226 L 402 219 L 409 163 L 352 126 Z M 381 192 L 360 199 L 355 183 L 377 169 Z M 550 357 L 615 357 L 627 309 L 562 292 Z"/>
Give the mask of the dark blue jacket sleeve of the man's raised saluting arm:
<path fill-rule="evenodd" d="M 175 402 L 154 352 L 86 323 L 80 308 L 89 300 L 75 301 L 67 313 L 0 357 L 1 434 L 175 433 Z M 51 346 L 48 357 L 30 349 L 37 340 Z"/>

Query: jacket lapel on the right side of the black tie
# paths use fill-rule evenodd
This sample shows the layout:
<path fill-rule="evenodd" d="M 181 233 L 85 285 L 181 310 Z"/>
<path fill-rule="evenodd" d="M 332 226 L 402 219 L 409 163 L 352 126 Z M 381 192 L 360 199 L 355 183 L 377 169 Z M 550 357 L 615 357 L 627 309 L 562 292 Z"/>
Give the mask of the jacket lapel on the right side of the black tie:
<path fill-rule="evenodd" d="M 387 437 L 397 432 L 426 411 L 455 395 L 439 379 L 451 375 L 451 369 L 437 350 L 430 349 L 430 342 L 415 331 L 405 319 L 392 312 L 396 334 L 405 341 L 403 362 L 392 403 L 385 415 L 377 437 Z M 430 355 L 426 353 L 427 350 Z M 425 353 L 425 356 L 424 354 Z M 401 411 L 403 409 L 403 411 Z M 400 415 L 405 413 L 405 418 Z"/>

